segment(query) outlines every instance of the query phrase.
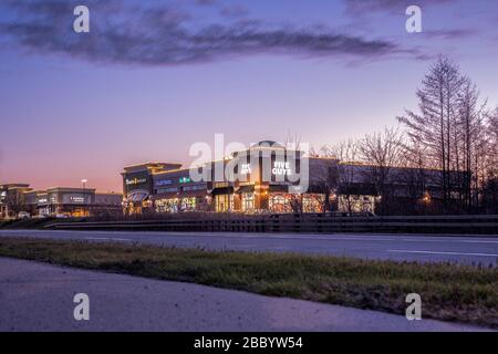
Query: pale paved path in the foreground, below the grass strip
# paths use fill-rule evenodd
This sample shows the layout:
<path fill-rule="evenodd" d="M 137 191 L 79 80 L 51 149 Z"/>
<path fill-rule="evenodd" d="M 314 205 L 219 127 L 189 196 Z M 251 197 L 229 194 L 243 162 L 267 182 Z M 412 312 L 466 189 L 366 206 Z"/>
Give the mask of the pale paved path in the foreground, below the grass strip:
<path fill-rule="evenodd" d="M 76 293 L 89 295 L 89 321 L 74 320 Z M 484 329 L 0 258 L 0 331 L 480 330 Z"/>

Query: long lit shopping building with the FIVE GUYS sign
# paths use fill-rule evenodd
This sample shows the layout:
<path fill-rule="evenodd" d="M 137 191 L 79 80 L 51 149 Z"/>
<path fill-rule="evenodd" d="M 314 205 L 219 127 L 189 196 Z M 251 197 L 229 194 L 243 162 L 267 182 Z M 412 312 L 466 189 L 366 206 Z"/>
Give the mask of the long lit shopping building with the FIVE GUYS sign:
<path fill-rule="evenodd" d="M 307 158 L 307 188 L 295 192 L 293 188 L 301 180 L 292 177 L 304 168 L 301 156 L 302 152 L 261 142 L 230 158 L 193 169 L 167 163 L 128 166 L 122 173 L 124 211 L 376 212 L 383 204 L 382 187 L 390 206 L 400 211 L 408 205 L 413 209 L 435 202 L 440 196 L 438 170 L 393 167 L 380 186 L 375 166 L 321 157 Z M 288 164 L 291 159 L 293 164 Z M 234 168 L 232 178 L 215 176 L 217 169 L 227 167 Z M 193 179 L 193 175 L 205 178 Z"/>

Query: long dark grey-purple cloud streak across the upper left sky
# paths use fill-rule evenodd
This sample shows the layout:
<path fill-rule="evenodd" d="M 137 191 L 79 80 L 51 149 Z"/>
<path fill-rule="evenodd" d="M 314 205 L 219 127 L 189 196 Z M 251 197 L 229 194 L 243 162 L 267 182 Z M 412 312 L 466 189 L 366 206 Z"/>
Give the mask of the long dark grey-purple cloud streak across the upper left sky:
<path fill-rule="evenodd" d="M 169 7 L 124 7 L 90 1 L 91 33 L 74 33 L 68 0 L 7 2 L 18 17 L 0 22 L 0 35 L 32 51 L 63 53 L 93 62 L 174 65 L 234 55 L 280 53 L 299 56 L 349 56 L 352 60 L 413 55 L 393 42 L 326 30 L 269 28 L 257 21 L 197 27 L 187 13 Z M 37 11 L 32 11 L 35 6 Z"/>

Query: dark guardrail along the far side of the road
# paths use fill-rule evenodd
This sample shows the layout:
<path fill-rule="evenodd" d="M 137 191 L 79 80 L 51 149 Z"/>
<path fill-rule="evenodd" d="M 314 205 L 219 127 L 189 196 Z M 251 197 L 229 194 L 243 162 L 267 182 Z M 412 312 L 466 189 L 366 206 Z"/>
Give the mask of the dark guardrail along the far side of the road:
<path fill-rule="evenodd" d="M 266 215 L 242 219 L 53 222 L 48 229 L 231 232 L 393 232 L 498 235 L 498 216 L 338 217 L 326 214 Z"/>

